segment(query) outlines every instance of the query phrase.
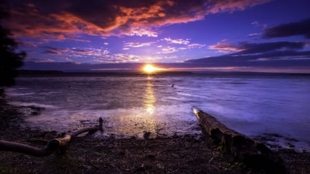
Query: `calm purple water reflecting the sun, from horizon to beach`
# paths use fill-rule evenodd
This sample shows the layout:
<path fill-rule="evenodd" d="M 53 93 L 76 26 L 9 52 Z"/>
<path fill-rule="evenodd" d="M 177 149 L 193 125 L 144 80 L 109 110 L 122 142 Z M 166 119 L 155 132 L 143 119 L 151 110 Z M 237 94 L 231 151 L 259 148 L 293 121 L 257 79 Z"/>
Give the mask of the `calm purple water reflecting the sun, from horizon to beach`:
<path fill-rule="evenodd" d="M 310 144 L 309 76 L 21 77 L 8 100 L 44 107 L 26 119 L 40 129 L 68 131 L 103 117 L 103 136 L 200 133 L 195 106 L 251 137 L 277 133 Z"/>

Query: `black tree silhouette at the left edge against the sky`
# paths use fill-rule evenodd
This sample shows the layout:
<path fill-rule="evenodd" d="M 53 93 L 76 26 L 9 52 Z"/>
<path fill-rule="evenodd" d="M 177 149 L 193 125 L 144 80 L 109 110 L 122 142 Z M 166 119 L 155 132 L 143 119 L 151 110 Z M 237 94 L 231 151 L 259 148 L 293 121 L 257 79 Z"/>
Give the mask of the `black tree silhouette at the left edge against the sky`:
<path fill-rule="evenodd" d="M 3 28 L 3 19 L 8 17 L 8 8 L 5 1 L 0 0 L 0 95 L 3 95 L 4 87 L 15 84 L 17 68 L 23 65 L 25 52 L 17 52 L 17 42 L 12 39 L 12 34 Z"/>

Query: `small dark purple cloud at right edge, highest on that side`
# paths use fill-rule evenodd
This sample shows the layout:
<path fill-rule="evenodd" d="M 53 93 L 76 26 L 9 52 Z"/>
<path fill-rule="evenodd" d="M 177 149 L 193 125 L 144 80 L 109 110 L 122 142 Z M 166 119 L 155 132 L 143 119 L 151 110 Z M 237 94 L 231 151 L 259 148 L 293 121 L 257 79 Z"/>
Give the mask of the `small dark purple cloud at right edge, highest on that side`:
<path fill-rule="evenodd" d="M 286 23 L 264 30 L 262 38 L 271 39 L 276 37 L 287 37 L 301 35 L 310 39 L 310 18 L 299 22 Z"/>

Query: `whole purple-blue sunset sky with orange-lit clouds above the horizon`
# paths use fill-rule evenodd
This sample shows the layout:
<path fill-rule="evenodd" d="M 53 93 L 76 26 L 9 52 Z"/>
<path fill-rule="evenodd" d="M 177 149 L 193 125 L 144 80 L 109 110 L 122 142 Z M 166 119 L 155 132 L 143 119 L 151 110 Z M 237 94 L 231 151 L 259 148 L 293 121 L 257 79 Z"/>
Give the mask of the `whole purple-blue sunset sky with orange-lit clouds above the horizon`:
<path fill-rule="evenodd" d="M 10 0 L 23 69 L 310 73 L 309 0 Z"/>

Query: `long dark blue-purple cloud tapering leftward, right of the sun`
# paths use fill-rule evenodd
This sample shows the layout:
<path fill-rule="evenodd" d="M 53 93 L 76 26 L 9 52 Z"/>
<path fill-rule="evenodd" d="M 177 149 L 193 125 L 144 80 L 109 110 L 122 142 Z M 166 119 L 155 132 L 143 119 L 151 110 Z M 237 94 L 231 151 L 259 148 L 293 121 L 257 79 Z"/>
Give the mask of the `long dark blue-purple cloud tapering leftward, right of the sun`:
<path fill-rule="evenodd" d="M 302 50 L 305 43 L 300 42 L 273 42 L 273 43 L 238 43 L 229 45 L 238 52 L 198 58 L 185 61 L 186 63 L 200 63 L 207 67 L 236 67 L 236 66 L 310 66 L 310 51 Z"/>

